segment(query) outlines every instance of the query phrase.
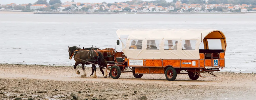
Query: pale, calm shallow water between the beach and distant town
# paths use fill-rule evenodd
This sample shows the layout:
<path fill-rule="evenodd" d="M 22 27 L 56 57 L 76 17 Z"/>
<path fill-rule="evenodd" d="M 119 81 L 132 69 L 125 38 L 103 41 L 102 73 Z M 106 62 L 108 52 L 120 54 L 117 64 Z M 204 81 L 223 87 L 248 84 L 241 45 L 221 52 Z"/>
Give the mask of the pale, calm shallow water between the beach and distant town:
<path fill-rule="evenodd" d="M 226 35 L 224 71 L 251 73 L 256 72 L 255 18 L 256 14 L 0 14 L 0 63 L 73 65 L 68 46 L 115 48 L 120 28 L 215 28 Z"/>

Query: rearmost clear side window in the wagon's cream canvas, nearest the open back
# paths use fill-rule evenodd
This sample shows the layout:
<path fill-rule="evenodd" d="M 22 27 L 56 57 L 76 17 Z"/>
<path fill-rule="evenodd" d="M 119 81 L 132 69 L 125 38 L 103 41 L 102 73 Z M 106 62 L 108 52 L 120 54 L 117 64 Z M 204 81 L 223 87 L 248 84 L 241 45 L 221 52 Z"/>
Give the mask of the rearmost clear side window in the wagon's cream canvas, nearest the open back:
<path fill-rule="evenodd" d="M 182 50 L 195 50 L 196 40 L 182 40 Z"/>

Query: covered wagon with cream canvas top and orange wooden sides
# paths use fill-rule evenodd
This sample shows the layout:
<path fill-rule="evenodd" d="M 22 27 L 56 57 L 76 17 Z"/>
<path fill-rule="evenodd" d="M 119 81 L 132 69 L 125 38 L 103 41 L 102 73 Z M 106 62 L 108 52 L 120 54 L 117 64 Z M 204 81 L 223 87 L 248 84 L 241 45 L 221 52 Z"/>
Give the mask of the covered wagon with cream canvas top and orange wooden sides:
<path fill-rule="evenodd" d="M 217 77 L 213 72 L 225 67 L 226 38 L 216 29 L 119 29 L 116 33 L 122 51 L 115 52 L 116 64 L 108 65 L 113 79 L 132 72 L 136 78 L 165 74 L 167 80 L 174 81 L 177 74 L 188 74 L 191 80 L 197 80 L 199 76 Z M 220 43 L 208 43 L 211 40 Z M 211 45 L 220 48 L 211 50 Z M 125 68 L 132 71 L 124 71 Z"/>

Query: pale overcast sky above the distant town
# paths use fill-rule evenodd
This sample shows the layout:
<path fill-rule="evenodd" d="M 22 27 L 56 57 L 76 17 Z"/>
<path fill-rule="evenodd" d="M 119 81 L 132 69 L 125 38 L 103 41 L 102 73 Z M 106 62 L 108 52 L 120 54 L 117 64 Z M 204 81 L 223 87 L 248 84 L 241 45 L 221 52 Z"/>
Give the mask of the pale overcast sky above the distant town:
<path fill-rule="evenodd" d="M 35 3 L 37 0 L 0 0 L 0 4 L 10 4 L 10 3 L 16 3 L 16 4 L 28 4 L 28 3 Z M 50 0 L 47 0 L 49 2 Z M 61 0 L 61 2 L 66 2 L 66 1 L 72 1 L 72 0 Z M 74 0 L 75 2 L 81 2 L 81 3 L 102 3 L 102 2 L 107 2 L 107 3 L 114 3 L 114 2 L 123 2 L 123 1 L 130 1 L 130 0 Z M 152 1 L 152 0 L 143 0 L 143 1 Z M 167 2 L 171 2 L 173 0 L 165 0 Z"/>

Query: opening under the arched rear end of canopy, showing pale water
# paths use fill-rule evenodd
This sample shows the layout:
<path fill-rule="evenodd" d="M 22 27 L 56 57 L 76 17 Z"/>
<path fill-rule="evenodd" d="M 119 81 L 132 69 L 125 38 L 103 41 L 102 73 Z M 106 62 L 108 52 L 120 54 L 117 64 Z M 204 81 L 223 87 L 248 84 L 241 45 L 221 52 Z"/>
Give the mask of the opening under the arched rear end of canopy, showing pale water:
<path fill-rule="evenodd" d="M 208 41 L 208 48 L 211 50 L 221 50 L 221 41 L 220 39 L 207 39 Z"/>

